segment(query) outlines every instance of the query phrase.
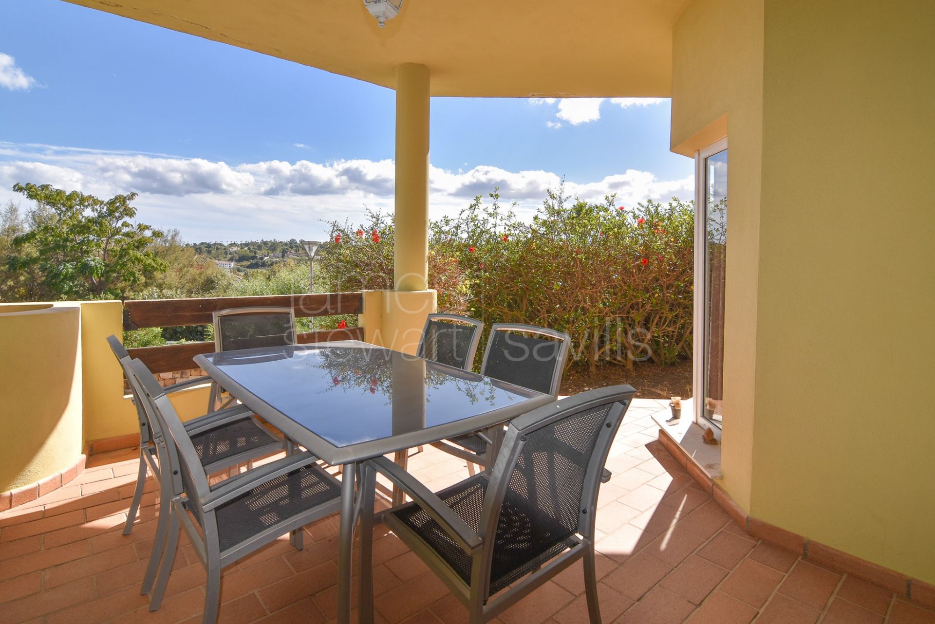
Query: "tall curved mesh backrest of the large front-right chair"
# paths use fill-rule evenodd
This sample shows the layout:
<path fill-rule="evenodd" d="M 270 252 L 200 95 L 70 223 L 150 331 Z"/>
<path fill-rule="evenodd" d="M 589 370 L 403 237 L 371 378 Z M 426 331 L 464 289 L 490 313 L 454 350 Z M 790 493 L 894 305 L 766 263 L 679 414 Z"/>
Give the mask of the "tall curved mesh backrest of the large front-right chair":
<path fill-rule="evenodd" d="M 496 593 L 544 564 L 575 533 L 594 537 L 601 473 L 635 393 L 631 386 L 587 390 L 511 421 L 481 515 L 485 592 Z M 488 587 L 491 566 L 511 569 L 517 544 L 526 554 L 540 545 L 543 559 Z"/>

